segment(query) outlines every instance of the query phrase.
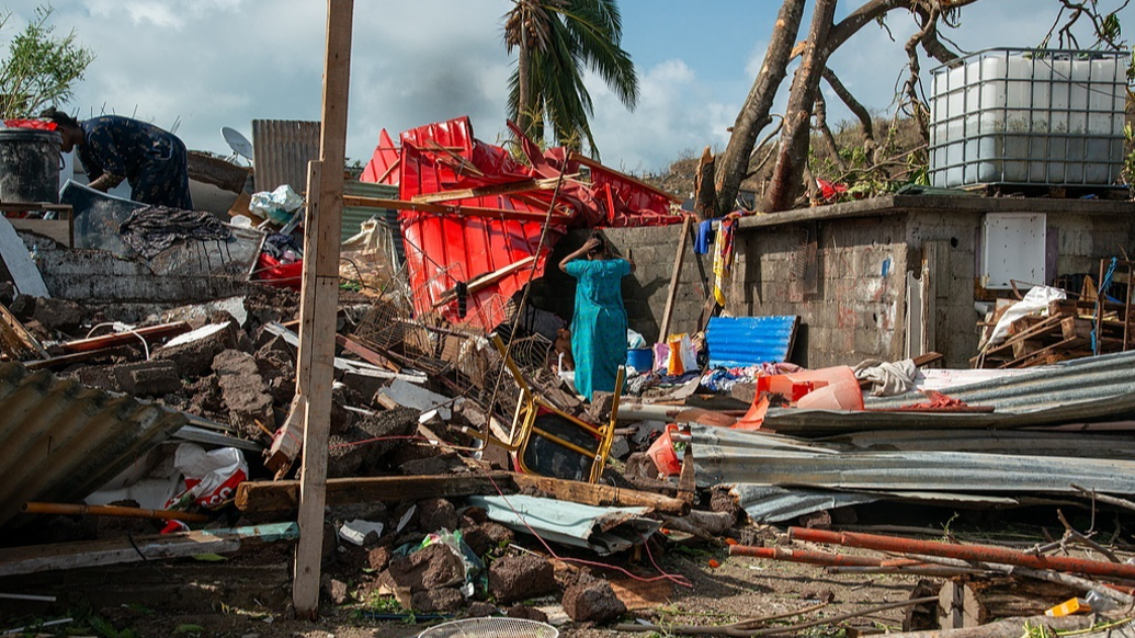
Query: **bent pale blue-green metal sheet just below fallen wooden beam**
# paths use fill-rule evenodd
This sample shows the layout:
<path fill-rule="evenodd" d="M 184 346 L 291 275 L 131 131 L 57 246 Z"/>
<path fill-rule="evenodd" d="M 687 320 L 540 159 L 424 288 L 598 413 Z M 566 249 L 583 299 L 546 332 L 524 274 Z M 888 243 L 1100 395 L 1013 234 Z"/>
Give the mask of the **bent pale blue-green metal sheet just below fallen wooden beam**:
<path fill-rule="evenodd" d="M 536 496 L 469 496 L 490 520 L 564 545 L 587 547 L 600 556 L 641 544 L 662 526 L 645 518 L 647 507 L 595 507 Z"/>

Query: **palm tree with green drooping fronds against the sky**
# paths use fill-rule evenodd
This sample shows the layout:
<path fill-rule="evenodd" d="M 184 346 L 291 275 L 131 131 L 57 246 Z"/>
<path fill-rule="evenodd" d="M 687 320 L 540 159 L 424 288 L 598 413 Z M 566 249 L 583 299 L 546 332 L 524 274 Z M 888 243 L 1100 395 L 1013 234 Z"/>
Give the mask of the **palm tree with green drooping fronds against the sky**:
<path fill-rule="evenodd" d="M 512 0 L 504 41 L 519 50 L 508 79 L 508 117 L 535 140 L 550 126 L 557 144 L 581 149 L 587 141 L 598 157 L 588 119 L 591 95 L 583 85 L 587 67 L 599 74 L 619 100 L 633 110 L 638 76 L 619 41 L 622 18 L 616 0 Z"/>

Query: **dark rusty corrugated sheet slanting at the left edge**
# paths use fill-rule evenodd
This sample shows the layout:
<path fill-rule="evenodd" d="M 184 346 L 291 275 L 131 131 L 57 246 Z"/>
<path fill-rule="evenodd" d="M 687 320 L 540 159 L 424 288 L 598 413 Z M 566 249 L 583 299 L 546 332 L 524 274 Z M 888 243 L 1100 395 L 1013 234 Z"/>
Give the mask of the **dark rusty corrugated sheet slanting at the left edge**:
<path fill-rule="evenodd" d="M 28 501 L 77 503 L 186 418 L 19 363 L 0 363 L 0 527 Z"/>

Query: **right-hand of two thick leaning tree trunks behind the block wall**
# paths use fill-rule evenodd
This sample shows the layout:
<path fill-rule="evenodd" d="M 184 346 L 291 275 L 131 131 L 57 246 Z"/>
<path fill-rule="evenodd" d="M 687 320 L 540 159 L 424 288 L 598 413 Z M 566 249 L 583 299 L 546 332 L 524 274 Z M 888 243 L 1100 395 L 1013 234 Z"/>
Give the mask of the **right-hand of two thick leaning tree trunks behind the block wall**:
<path fill-rule="evenodd" d="M 772 183 L 763 210 L 776 212 L 792 208 L 800 192 L 800 178 L 808 161 L 808 137 L 812 131 L 812 108 L 819 91 L 819 78 L 827 57 L 824 44 L 832 30 L 832 16 L 836 0 L 816 0 L 812 14 L 812 30 L 804 49 L 800 68 L 792 79 L 792 92 L 788 98 L 784 114 L 784 132 L 781 134 L 776 166 L 773 167 Z"/>

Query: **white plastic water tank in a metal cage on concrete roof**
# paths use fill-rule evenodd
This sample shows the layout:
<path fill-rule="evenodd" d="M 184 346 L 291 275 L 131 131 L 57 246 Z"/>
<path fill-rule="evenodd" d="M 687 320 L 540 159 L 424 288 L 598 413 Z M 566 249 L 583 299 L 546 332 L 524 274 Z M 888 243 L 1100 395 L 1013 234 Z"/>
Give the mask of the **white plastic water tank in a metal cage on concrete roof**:
<path fill-rule="evenodd" d="M 1126 62 L 1121 52 L 997 49 L 935 68 L 932 184 L 1117 184 Z"/>

